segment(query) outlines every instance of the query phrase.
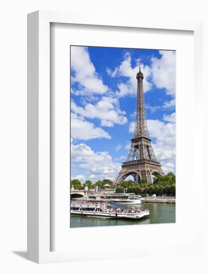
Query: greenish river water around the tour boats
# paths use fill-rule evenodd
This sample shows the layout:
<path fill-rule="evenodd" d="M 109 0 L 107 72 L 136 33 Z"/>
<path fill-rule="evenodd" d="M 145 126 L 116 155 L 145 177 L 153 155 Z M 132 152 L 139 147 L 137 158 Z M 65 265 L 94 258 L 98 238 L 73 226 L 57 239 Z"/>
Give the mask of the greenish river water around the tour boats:
<path fill-rule="evenodd" d="M 132 208 L 132 205 L 112 204 L 114 207 Z M 96 226 L 121 226 L 140 224 L 165 224 L 176 222 L 176 204 L 143 203 L 134 205 L 135 208 L 148 208 L 150 215 L 141 220 L 101 219 L 85 216 L 71 216 L 71 228 Z"/>

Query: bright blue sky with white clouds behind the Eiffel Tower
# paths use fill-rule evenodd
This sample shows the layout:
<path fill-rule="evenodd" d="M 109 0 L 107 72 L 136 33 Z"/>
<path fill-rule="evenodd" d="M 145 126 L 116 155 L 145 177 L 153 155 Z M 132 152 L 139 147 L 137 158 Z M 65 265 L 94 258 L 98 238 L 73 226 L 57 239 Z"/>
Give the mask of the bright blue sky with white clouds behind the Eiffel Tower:
<path fill-rule="evenodd" d="M 133 135 L 141 66 L 149 135 L 175 172 L 174 51 L 71 46 L 71 178 L 114 179 Z"/>

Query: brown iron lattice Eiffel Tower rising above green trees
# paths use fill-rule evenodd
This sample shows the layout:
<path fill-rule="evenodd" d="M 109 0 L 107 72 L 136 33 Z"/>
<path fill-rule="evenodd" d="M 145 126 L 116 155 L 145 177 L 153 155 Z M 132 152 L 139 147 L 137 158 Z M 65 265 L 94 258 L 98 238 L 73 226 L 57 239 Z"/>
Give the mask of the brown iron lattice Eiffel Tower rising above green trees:
<path fill-rule="evenodd" d="M 145 101 L 143 91 L 144 75 L 140 70 L 137 73 L 137 104 L 134 136 L 131 138 L 131 147 L 121 171 L 113 182 L 114 186 L 120 185 L 126 177 L 132 175 L 134 181 L 139 183 L 141 179 L 152 182 L 152 175 L 165 175 L 160 162 L 157 161 L 148 135 L 145 113 Z"/>

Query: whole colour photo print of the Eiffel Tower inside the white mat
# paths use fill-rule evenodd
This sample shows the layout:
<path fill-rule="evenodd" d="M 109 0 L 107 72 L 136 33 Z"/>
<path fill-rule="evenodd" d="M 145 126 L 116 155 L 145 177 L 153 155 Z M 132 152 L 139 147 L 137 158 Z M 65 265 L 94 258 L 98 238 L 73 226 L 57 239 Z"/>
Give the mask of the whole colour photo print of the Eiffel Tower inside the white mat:
<path fill-rule="evenodd" d="M 70 227 L 176 222 L 176 51 L 70 46 Z"/>

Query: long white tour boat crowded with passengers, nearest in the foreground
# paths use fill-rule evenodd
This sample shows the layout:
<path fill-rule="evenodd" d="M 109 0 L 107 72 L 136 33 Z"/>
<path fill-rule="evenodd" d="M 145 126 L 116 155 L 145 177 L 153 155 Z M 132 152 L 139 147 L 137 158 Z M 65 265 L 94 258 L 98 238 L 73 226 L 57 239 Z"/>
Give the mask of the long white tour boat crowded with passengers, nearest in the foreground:
<path fill-rule="evenodd" d="M 95 217 L 95 218 L 106 218 L 106 219 L 130 219 L 138 220 L 143 217 L 149 216 L 150 212 L 148 209 L 123 209 L 114 208 L 109 204 L 82 204 L 82 203 L 71 203 L 71 215 Z"/>

